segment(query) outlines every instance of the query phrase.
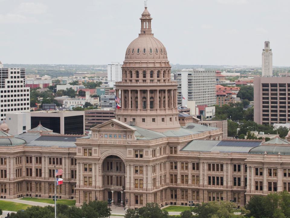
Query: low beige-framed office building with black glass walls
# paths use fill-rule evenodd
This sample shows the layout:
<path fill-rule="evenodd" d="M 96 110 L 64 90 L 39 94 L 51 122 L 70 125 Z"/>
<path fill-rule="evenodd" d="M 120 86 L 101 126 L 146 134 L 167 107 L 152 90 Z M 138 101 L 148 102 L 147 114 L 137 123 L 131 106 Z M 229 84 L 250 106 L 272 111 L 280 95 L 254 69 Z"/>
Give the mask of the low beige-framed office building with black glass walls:
<path fill-rule="evenodd" d="M 59 134 L 83 135 L 85 133 L 84 111 L 34 111 L 30 113 L 31 128 L 41 123 L 43 127 Z"/>

